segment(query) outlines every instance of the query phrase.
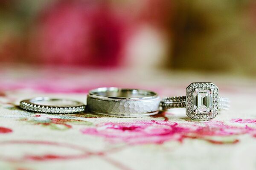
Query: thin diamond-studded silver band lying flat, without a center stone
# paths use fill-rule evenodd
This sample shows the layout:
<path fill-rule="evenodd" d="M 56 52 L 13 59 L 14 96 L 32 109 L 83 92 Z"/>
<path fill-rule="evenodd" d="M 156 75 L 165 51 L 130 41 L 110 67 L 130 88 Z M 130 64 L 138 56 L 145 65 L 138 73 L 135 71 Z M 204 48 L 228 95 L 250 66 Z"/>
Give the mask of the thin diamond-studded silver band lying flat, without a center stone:
<path fill-rule="evenodd" d="M 49 97 L 36 97 L 22 100 L 20 108 L 26 111 L 41 113 L 78 113 L 83 112 L 85 105 L 69 99 L 51 99 Z"/>

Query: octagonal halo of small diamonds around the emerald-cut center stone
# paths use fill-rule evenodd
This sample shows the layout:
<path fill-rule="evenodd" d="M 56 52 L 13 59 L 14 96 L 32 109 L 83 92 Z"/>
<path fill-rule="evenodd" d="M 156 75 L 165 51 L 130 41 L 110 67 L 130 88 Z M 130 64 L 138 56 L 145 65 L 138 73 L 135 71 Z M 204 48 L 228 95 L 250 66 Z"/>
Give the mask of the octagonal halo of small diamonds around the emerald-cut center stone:
<path fill-rule="evenodd" d="M 212 112 L 207 114 L 198 114 L 193 111 L 193 90 L 212 89 Z M 210 82 L 195 82 L 186 88 L 186 115 L 193 120 L 211 120 L 218 115 L 218 87 Z"/>

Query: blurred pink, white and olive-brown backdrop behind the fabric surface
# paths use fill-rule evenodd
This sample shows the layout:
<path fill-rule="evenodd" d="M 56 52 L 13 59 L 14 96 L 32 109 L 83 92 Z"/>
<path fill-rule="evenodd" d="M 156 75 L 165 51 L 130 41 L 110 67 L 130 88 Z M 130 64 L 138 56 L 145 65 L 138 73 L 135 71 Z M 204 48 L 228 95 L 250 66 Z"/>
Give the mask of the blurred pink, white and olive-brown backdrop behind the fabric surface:
<path fill-rule="evenodd" d="M 2 65 L 256 74 L 253 0 L 0 0 Z"/>

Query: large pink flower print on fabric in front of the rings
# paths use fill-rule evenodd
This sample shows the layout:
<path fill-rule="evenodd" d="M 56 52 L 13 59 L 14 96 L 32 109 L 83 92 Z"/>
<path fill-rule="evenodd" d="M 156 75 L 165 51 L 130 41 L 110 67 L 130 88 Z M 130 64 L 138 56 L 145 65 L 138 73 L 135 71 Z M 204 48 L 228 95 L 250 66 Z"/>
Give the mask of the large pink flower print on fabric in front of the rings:
<path fill-rule="evenodd" d="M 128 144 L 162 144 L 167 141 L 183 142 L 184 139 L 201 139 L 213 144 L 239 142 L 236 135 L 256 135 L 256 128 L 225 125 L 224 122 L 210 121 L 204 123 L 177 123 L 167 121 L 137 121 L 120 123 L 103 123 L 96 127 L 83 128 L 83 134 L 102 136 L 110 142 Z M 233 139 L 220 140 L 214 137 L 234 136 Z"/>

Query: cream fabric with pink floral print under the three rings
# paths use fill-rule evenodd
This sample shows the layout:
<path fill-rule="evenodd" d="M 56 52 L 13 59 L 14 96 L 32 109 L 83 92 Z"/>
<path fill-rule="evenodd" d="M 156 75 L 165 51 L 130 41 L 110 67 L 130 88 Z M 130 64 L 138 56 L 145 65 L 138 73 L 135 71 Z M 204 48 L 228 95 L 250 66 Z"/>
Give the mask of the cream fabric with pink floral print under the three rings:
<path fill-rule="evenodd" d="M 220 95 L 231 99 L 230 111 L 212 121 L 193 121 L 185 109 L 144 118 L 27 112 L 17 107 L 21 99 L 54 96 L 85 102 L 90 87 L 83 88 L 81 80 L 69 82 L 74 79 L 70 75 L 56 79 L 51 87 L 49 78 L 38 83 L 39 79 L 20 82 L 11 77 L 1 84 L 0 93 L 1 170 L 256 169 L 256 113 L 241 101 L 253 101 L 253 86 L 243 91 L 221 85 Z M 183 95 L 190 82 L 177 82 L 180 87 L 148 88 L 161 96 Z M 57 85 L 61 88 L 55 90 Z"/>

